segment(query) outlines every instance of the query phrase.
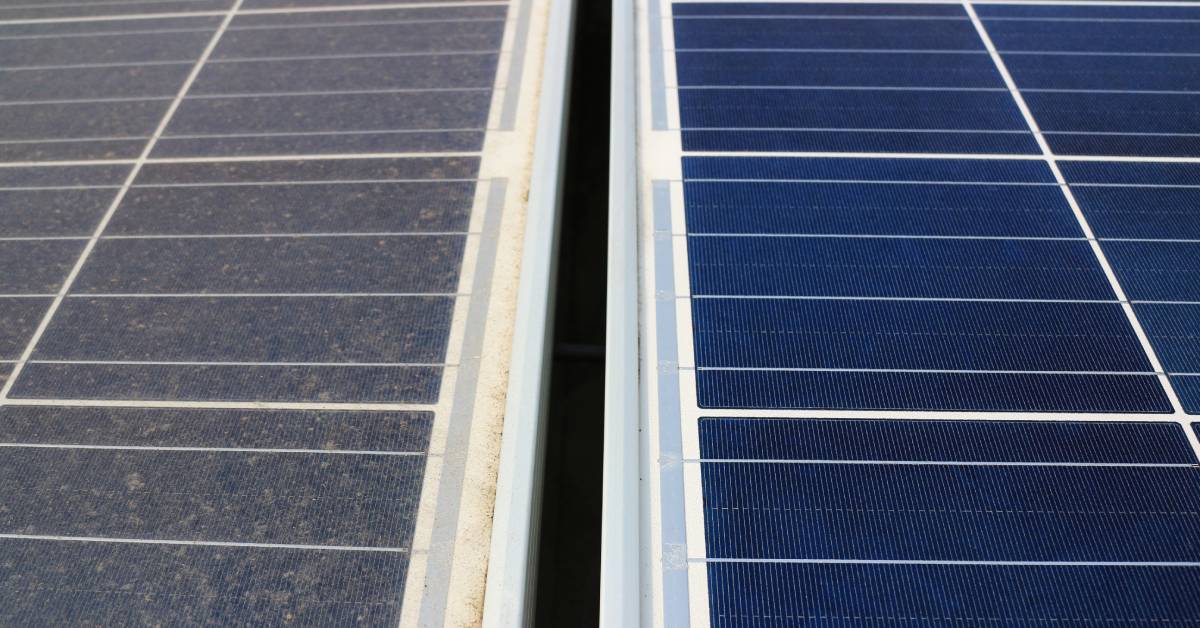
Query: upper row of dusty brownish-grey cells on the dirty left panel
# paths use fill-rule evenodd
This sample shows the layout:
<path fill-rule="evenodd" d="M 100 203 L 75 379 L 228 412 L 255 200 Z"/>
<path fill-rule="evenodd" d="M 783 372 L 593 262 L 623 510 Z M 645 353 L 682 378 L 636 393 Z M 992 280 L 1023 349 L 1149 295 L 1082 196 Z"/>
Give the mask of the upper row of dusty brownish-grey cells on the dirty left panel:
<path fill-rule="evenodd" d="M 238 16 L 151 156 L 479 150 L 504 16 Z M 221 19 L 0 24 L 0 159 L 137 157 Z"/>

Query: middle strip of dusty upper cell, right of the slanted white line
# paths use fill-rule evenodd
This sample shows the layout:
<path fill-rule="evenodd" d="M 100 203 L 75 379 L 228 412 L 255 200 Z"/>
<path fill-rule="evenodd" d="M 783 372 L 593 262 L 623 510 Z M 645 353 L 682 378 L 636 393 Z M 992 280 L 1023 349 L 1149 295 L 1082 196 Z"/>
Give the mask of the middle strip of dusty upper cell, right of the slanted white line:
<path fill-rule="evenodd" d="M 498 56 L 497 53 L 486 53 L 209 62 L 188 94 L 491 89 Z"/>

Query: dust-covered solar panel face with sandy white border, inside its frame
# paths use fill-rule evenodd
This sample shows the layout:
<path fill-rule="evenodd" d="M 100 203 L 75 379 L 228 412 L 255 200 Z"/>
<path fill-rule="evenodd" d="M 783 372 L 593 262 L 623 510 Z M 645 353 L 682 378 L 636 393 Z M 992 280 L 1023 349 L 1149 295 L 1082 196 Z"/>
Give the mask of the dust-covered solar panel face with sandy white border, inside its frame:
<path fill-rule="evenodd" d="M 0 623 L 480 620 L 542 5 L 0 0 Z"/>

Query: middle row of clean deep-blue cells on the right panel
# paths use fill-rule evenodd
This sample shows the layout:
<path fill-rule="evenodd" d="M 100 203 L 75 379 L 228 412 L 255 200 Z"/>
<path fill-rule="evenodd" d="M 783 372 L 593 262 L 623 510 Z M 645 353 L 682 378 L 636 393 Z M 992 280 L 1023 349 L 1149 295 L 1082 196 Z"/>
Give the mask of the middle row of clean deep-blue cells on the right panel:
<path fill-rule="evenodd" d="M 1200 167 L 1060 163 L 1200 411 Z M 706 407 L 1170 409 L 1042 161 L 686 157 L 684 178 Z"/>

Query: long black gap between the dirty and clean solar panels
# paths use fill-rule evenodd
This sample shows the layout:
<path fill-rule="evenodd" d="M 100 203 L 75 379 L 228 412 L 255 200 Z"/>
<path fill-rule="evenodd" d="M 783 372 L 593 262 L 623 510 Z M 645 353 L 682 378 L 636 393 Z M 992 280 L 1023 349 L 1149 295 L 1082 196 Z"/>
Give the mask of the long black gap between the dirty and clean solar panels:
<path fill-rule="evenodd" d="M 595 626 L 608 231 L 610 1 L 576 0 L 535 622 Z"/>

